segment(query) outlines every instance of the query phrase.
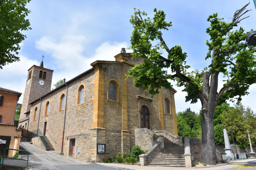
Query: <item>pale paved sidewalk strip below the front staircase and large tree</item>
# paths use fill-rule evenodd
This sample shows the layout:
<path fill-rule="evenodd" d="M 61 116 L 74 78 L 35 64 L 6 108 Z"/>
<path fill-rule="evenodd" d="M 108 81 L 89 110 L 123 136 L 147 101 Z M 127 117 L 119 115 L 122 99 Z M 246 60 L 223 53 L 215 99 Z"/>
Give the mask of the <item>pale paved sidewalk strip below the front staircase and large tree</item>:
<path fill-rule="evenodd" d="M 250 163 L 247 163 L 250 161 Z M 250 164 L 250 166 L 256 165 L 256 159 L 246 159 L 246 160 L 233 160 L 228 161 L 227 165 L 222 165 L 218 167 L 207 167 L 207 168 L 185 168 L 185 167 L 150 167 L 150 166 L 139 166 L 139 165 L 126 165 L 126 164 L 117 164 L 117 163 L 103 163 L 107 165 L 113 165 L 116 167 L 122 167 L 122 168 L 128 168 L 128 169 L 135 169 L 135 170 L 195 170 L 195 169 L 201 169 L 201 170 L 238 170 L 239 168 L 231 168 L 231 165 L 233 163 L 241 164 L 244 163 L 246 166 L 247 164 Z M 249 165 L 248 165 L 249 166 Z M 233 165 L 234 167 L 234 165 Z M 107 167 L 106 167 L 107 168 Z M 240 170 L 248 170 L 248 168 L 241 168 Z M 256 170 L 256 168 L 250 168 L 250 170 Z"/>

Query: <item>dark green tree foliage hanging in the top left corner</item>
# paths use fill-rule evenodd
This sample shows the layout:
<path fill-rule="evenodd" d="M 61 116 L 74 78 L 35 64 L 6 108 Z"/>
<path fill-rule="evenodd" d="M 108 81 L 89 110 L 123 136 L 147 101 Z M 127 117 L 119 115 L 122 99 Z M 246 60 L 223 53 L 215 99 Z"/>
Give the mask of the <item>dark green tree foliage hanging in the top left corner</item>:
<path fill-rule="evenodd" d="M 30 10 L 25 6 L 30 0 L 1 0 L 0 1 L 0 68 L 8 63 L 20 61 L 20 43 L 26 35 L 20 31 L 31 30 L 28 16 Z M 27 38 L 27 37 L 26 37 Z"/>

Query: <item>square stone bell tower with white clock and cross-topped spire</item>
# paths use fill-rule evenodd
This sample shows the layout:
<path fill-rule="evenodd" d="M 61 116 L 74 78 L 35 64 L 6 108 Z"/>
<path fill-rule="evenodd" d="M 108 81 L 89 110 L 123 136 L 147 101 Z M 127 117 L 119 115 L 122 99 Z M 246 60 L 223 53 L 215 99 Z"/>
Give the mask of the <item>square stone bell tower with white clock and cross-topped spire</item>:
<path fill-rule="evenodd" d="M 43 57 L 43 56 L 42 56 Z M 30 111 L 29 103 L 45 95 L 51 90 L 53 70 L 43 67 L 43 60 L 40 66 L 33 65 L 28 69 L 26 87 L 20 112 L 20 120 L 26 117 Z"/>

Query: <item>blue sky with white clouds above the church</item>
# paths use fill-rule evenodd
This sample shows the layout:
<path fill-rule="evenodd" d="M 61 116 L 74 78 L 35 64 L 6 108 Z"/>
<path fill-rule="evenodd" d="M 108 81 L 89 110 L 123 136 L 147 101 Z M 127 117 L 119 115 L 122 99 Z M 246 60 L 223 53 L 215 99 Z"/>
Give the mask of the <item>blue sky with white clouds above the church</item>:
<path fill-rule="evenodd" d="M 121 48 L 130 44 L 133 31 L 129 23 L 134 8 L 154 15 L 153 9 L 163 10 L 166 21 L 173 26 L 169 31 L 163 31 L 163 38 L 169 48 L 180 45 L 188 53 L 187 64 L 191 69 L 202 70 L 210 60 L 204 60 L 207 53 L 206 28 L 209 27 L 207 18 L 218 13 L 225 21 L 231 20 L 234 12 L 240 9 L 248 0 L 183 0 L 183 1 L 87 1 L 87 0 L 32 0 L 27 8 L 32 30 L 24 31 L 27 38 L 21 43 L 19 57 L 21 61 L 4 66 L 0 70 L 0 87 L 24 93 L 27 70 L 39 65 L 42 55 L 45 68 L 53 69 L 53 83 L 66 78 L 70 80 L 78 74 L 91 68 L 95 60 L 114 60 Z M 249 18 L 243 20 L 238 27 L 246 31 L 256 29 L 256 10 L 251 1 L 247 7 Z M 248 16 L 245 14 L 245 16 Z M 129 52 L 129 51 L 127 51 Z M 164 54 L 163 54 L 164 55 Z M 222 86 L 220 76 L 219 88 Z M 186 93 L 183 88 L 176 87 L 176 111 L 191 108 L 198 112 L 201 103 L 185 102 Z M 242 104 L 256 111 L 254 96 L 256 85 L 249 88 L 249 95 L 244 96 Z M 19 103 L 22 103 L 23 95 Z"/>

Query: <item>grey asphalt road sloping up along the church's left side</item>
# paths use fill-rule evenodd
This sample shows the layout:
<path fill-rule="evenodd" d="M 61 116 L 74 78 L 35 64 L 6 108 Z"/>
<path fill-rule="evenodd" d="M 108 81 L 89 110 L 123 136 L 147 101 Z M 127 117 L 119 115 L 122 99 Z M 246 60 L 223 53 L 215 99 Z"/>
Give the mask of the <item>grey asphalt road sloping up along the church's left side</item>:
<path fill-rule="evenodd" d="M 40 170 L 116 170 L 115 168 L 104 167 L 96 164 L 87 164 L 72 158 L 61 156 L 51 151 L 29 144 L 22 138 L 20 150 L 29 151 L 28 167 Z M 27 159 L 27 152 L 20 152 L 22 159 Z M 22 160 L 5 159 L 4 165 L 15 165 L 25 167 L 27 162 Z"/>

